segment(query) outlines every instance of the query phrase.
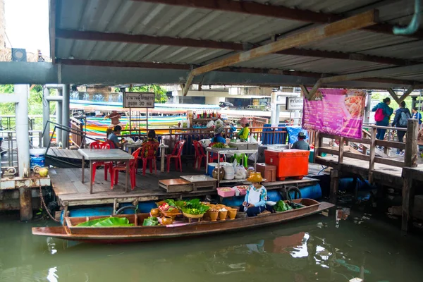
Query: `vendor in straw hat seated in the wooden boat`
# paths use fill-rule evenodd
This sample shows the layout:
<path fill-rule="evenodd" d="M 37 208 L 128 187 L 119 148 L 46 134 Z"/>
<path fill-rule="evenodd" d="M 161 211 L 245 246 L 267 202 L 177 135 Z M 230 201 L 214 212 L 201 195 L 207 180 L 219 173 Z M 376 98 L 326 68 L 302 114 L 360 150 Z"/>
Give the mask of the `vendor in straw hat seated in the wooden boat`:
<path fill-rule="evenodd" d="M 266 209 L 267 190 L 262 185 L 266 179 L 262 178 L 261 173 L 254 173 L 254 175 L 247 178 L 251 185 L 247 188 L 247 194 L 243 204 L 240 205 L 240 212 L 247 212 L 247 216 L 257 216 Z"/>

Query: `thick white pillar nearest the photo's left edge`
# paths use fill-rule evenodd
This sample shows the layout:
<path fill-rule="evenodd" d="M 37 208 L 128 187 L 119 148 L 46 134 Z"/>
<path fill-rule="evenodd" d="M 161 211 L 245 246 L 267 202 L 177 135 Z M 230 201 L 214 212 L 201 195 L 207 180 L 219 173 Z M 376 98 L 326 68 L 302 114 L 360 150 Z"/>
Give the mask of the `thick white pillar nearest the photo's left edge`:
<path fill-rule="evenodd" d="M 26 177 L 30 173 L 30 140 L 28 124 L 28 96 L 29 85 L 15 85 L 18 103 L 15 104 L 16 113 L 16 144 L 18 145 L 19 176 Z"/>

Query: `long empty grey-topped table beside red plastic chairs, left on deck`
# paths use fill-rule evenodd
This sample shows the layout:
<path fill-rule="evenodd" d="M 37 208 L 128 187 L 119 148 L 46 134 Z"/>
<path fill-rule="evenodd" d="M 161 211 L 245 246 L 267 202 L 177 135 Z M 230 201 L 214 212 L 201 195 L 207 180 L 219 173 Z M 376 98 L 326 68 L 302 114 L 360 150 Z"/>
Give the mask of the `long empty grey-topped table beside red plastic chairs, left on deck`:
<path fill-rule="evenodd" d="M 82 183 L 85 178 L 85 159 L 90 161 L 90 194 L 92 194 L 92 163 L 94 161 L 125 161 L 126 162 L 126 180 L 125 192 L 128 192 L 129 179 L 129 161 L 134 159 L 132 154 L 122 151 L 121 149 L 78 149 L 78 153 L 82 156 Z"/>

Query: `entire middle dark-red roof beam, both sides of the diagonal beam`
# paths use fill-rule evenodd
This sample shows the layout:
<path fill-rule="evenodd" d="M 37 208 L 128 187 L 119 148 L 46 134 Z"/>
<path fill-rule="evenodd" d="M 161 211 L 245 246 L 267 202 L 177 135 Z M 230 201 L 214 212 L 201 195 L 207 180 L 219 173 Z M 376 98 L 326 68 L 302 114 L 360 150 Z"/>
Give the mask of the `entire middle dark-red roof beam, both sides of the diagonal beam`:
<path fill-rule="evenodd" d="M 108 32 L 90 32 L 79 30 L 56 30 L 56 37 L 63 39 L 77 39 L 77 40 L 93 40 L 103 42 L 123 42 L 133 44 L 157 44 L 178 47 L 195 47 L 195 48 L 210 48 L 210 49 L 226 49 L 231 51 L 243 51 L 244 44 L 235 42 L 218 42 L 213 40 L 198 40 L 189 38 L 173 38 L 173 37 L 157 37 L 149 35 L 127 35 L 123 33 L 108 33 Z M 293 56 L 309 56 L 324 59 L 341 59 L 351 61 L 369 61 L 372 63 L 386 63 L 388 65 L 396 66 L 410 66 L 421 62 L 409 61 L 405 59 L 388 58 L 381 56 L 364 55 L 357 53 L 343 53 L 336 51 L 321 51 L 300 48 L 290 48 L 283 51 L 278 51 L 276 54 L 293 55 Z"/>

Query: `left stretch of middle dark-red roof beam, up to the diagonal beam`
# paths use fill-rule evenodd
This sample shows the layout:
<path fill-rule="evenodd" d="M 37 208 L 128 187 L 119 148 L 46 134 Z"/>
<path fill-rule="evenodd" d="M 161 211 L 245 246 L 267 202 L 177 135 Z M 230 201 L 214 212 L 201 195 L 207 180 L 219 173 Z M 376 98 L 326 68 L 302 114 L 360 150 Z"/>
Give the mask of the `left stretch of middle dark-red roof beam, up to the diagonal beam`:
<path fill-rule="evenodd" d="M 92 32 L 78 30 L 56 30 L 56 38 L 167 45 L 178 47 L 228 49 L 238 51 L 244 50 L 243 44 L 233 42 L 218 42 L 213 40 L 199 40 L 190 38 L 157 37 L 149 35 L 127 35 L 124 33 Z"/>

